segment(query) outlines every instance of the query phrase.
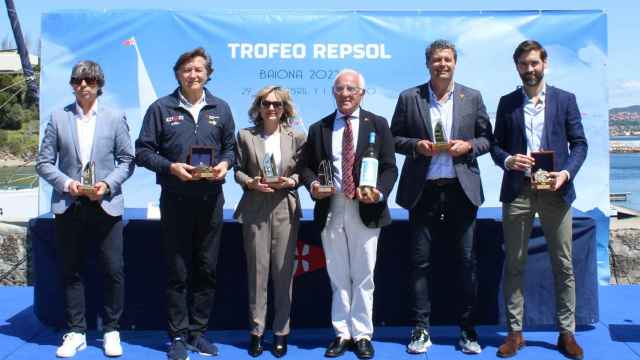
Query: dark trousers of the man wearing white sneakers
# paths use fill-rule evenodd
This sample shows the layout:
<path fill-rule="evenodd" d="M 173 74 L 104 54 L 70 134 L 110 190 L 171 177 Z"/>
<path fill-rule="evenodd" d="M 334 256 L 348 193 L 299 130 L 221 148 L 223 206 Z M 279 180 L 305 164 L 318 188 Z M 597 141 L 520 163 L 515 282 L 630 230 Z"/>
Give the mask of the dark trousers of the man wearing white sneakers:
<path fill-rule="evenodd" d="M 118 330 L 124 307 L 122 216 L 111 216 L 98 202 L 79 198 L 67 211 L 55 216 L 55 228 L 68 330 L 87 331 L 81 273 L 87 256 L 96 251 L 104 287 L 103 329 Z"/>

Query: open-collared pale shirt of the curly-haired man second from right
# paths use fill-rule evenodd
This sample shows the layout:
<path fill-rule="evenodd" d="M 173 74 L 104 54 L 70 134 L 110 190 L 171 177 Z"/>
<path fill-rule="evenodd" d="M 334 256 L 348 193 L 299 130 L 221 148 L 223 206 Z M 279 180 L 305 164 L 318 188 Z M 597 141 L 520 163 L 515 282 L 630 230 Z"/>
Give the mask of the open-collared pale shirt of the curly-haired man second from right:
<path fill-rule="evenodd" d="M 431 85 L 429 85 L 429 99 L 431 133 L 435 134 L 436 124 L 439 120 L 442 122 L 442 130 L 447 141 L 451 140 L 451 129 L 453 128 L 453 88 L 445 95 L 444 100 L 439 102 L 431 89 Z M 449 153 L 443 152 L 431 157 L 429 169 L 427 169 L 427 179 L 434 180 L 455 177 L 456 171 L 453 168 L 453 158 Z"/>

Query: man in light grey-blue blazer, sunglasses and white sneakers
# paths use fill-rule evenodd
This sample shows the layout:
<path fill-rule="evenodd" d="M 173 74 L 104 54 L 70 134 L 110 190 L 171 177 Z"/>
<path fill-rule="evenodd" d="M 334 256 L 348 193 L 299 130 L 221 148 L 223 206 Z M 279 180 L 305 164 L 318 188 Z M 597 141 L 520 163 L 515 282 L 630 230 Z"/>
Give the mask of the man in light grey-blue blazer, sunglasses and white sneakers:
<path fill-rule="evenodd" d="M 36 171 L 53 187 L 56 245 L 64 285 L 68 332 L 58 357 L 73 357 L 86 345 L 84 287 L 80 272 L 87 248 L 99 248 L 104 280 L 104 352 L 122 355 L 118 322 L 124 306 L 122 183 L 133 174 L 133 149 L 122 112 L 97 101 L 104 74 L 93 61 L 76 64 L 69 81 L 76 101 L 54 111 L 37 157 Z M 83 187 L 84 169 L 95 184 Z"/>

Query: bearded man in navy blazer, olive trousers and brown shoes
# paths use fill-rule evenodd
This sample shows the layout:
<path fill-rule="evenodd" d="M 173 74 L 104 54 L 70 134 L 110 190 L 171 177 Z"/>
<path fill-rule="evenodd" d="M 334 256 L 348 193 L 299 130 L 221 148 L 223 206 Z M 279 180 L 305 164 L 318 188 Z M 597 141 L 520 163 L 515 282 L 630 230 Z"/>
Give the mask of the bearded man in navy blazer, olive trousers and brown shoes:
<path fill-rule="evenodd" d="M 509 330 L 498 356 L 511 357 L 525 345 L 522 336 L 523 277 L 527 243 L 536 213 L 547 240 L 555 277 L 558 350 L 582 359 L 576 343 L 575 278 L 571 263 L 571 203 L 578 170 L 587 156 L 580 110 L 575 95 L 544 82 L 547 52 L 537 41 L 516 48 L 513 60 L 523 87 L 500 99 L 496 113 L 493 161 L 504 170 L 500 201 L 505 242 L 504 297 Z M 533 190 L 532 152 L 553 151 L 552 191 Z"/>

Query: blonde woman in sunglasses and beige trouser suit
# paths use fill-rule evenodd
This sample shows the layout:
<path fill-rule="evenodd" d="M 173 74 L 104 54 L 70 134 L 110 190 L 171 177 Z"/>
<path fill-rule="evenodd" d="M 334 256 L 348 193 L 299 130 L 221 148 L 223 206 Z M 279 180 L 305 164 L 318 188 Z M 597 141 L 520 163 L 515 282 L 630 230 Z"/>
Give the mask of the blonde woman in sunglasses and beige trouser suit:
<path fill-rule="evenodd" d="M 244 193 L 234 214 L 242 223 L 247 257 L 251 327 L 248 352 L 256 357 L 263 351 L 271 273 L 275 306 L 272 353 L 281 357 L 287 353 L 293 265 L 302 215 L 296 165 L 305 136 L 290 126 L 295 117 L 293 102 L 289 92 L 279 86 L 258 91 L 249 117 L 255 126 L 238 133 L 235 179 Z M 269 167 L 275 168 L 279 176 L 273 178 Z M 272 176 L 268 179 L 265 175 Z"/>

